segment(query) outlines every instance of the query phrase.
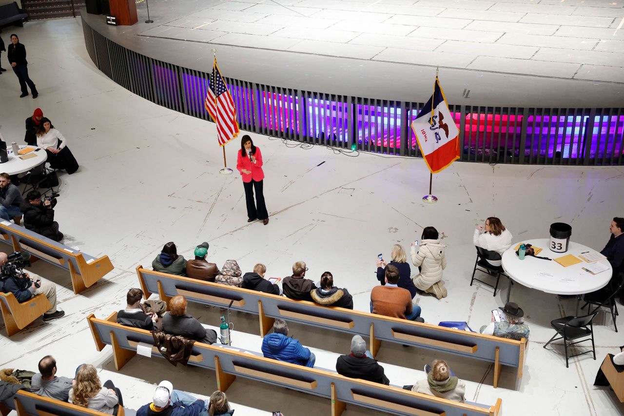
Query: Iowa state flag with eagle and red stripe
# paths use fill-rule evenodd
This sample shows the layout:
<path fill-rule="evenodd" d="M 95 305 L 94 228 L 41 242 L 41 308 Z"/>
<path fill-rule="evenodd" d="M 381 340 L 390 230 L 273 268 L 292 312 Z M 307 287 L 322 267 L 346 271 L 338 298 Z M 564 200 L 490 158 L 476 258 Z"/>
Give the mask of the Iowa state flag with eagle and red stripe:
<path fill-rule="evenodd" d="M 459 159 L 459 129 L 437 77 L 433 95 L 412 122 L 412 130 L 431 173 L 443 171 Z"/>

